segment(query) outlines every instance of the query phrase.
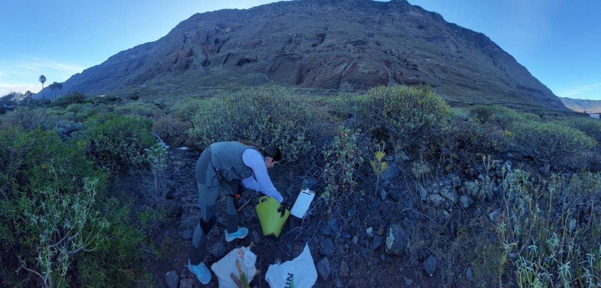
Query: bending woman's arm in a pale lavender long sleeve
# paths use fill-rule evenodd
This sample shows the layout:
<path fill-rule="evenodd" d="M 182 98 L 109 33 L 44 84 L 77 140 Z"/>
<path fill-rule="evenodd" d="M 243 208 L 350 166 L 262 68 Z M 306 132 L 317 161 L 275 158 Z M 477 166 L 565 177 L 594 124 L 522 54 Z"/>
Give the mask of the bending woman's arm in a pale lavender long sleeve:
<path fill-rule="evenodd" d="M 278 200 L 279 203 L 282 203 L 284 201 L 284 197 L 282 197 L 282 194 L 280 194 L 273 186 L 273 183 L 269 178 L 269 174 L 267 174 L 267 167 L 265 166 L 263 155 L 261 155 L 261 153 L 259 153 L 257 150 L 246 149 L 242 153 L 242 161 L 244 162 L 244 165 L 251 168 L 252 172 L 255 174 L 255 179 L 257 179 L 256 182 L 259 188 L 258 191 L 261 191 L 263 194 L 273 197 L 275 200 Z M 247 181 L 246 183 L 249 182 Z M 252 184 L 249 185 L 252 186 Z M 246 185 L 245 187 L 251 188 Z"/>

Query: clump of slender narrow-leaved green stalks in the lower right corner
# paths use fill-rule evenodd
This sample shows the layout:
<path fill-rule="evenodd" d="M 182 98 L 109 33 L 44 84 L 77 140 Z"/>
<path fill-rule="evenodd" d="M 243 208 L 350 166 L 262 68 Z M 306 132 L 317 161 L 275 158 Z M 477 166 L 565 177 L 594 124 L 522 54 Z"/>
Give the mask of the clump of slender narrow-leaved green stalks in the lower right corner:
<path fill-rule="evenodd" d="M 601 285 L 601 242 L 597 225 L 601 213 L 578 215 L 582 197 L 601 189 L 599 174 L 566 179 L 552 175 L 540 184 L 523 170 L 505 171 L 505 217 L 499 224 L 502 265 L 515 272 L 518 287 L 596 287 Z M 580 197 L 569 191 L 580 191 Z M 504 259 L 504 260 L 503 260 Z"/>

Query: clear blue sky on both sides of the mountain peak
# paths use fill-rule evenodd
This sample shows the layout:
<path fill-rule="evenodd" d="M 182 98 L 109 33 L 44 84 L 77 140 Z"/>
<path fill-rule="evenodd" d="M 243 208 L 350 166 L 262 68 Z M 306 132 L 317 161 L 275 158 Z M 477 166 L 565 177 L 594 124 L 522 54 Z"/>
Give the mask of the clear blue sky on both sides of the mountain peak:
<path fill-rule="evenodd" d="M 302 1 L 302 0 L 301 0 Z M 557 96 L 601 100 L 601 1 L 408 0 L 483 32 Z M 0 96 L 37 93 L 138 44 L 194 13 L 269 0 L 7 0 L 0 17 Z"/>

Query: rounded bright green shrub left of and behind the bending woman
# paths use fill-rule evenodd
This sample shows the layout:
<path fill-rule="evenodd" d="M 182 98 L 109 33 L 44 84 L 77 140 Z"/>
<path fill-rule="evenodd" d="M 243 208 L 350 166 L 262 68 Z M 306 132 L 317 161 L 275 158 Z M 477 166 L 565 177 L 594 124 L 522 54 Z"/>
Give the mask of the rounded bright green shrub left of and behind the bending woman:
<path fill-rule="evenodd" d="M 85 124 L 87 152 L 106 167 L 135 167 L 144 149 L 156 142 L 148 118 L 109 113 L 96 115 Z"/>

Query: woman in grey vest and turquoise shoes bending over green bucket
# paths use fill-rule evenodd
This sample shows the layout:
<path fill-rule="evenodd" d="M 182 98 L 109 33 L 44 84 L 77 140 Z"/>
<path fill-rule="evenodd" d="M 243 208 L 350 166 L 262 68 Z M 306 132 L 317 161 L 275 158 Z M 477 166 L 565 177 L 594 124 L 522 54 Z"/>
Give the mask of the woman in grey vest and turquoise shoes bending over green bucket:
<path fill-rule="evenodd" d="M 278 147 L 258 147 L 249 141 L 216 142 L 201 153 L 196 162 L 196 180 L 200 197 L 201 219 L 194 229 L 188 269 L 203 284 L 211 281 L 211 272 L 205 263 L 207 235 L 217 221 L 216 201 L 220 189 L 227 197 L 225 241 L 242 239 L 248 228 L 239 227 L 236 192 L 240 185 L 260 191 L 282 203 L 284 198 L 275 189 L 267 169 L 281 159 Z"/>

